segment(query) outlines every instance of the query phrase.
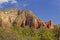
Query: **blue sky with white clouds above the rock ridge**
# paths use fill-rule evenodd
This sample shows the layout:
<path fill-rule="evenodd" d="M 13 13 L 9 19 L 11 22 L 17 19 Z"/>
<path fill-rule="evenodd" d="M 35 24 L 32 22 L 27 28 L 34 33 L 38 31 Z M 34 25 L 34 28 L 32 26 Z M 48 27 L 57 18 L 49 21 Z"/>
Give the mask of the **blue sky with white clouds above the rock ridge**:
<path fill-rule="evenodd" d="M 60 0 L 0 0 L 0 9 L 6 8 L 32 10 L 38 18 L 60 24 Z"/>

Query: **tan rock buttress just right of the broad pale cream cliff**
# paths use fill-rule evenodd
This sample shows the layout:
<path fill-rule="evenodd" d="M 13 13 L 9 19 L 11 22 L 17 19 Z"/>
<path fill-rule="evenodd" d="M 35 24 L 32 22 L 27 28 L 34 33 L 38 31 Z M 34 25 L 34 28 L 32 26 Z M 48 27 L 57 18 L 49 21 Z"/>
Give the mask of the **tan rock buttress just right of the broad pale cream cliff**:
<path fill-rule="evenodd" d="M 25 13 L 23 11 L 19 12 L 18 17 L 15 20 L 15 23 L 17 26 L 25 26 L 25 22 L 26 22 L 26 17 L 25 17 Z"/>

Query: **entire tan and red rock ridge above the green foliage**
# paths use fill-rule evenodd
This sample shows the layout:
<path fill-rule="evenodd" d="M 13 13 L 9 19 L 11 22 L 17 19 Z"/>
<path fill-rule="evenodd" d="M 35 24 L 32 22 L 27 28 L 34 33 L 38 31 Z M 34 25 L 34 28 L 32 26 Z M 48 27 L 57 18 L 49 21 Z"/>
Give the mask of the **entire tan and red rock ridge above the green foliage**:
<path fill-rule="evenodd" d="M 47 27 L 54 29 L 52 21 L 44 22 L 37 18 L 30 10 L 18 10 L 17 8 L 10 8 L 0 11 L 0 26 L 3 28 L 11 27 L 12 25 L 18 27 L 29 26 L 33 28 Z"/>

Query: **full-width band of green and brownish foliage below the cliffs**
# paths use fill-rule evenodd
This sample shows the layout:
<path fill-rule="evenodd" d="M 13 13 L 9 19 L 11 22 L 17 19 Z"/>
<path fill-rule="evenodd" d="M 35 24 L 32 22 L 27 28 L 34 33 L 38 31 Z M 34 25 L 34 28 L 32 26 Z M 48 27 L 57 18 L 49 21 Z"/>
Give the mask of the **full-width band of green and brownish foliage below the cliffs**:
<path fill-rule="evenodd" d="M 0 40 L 60 40 L 60 29 L 50 30 L 46 27 L 34 29 L 16 25 L 10 29 L 0 27 Z"/>

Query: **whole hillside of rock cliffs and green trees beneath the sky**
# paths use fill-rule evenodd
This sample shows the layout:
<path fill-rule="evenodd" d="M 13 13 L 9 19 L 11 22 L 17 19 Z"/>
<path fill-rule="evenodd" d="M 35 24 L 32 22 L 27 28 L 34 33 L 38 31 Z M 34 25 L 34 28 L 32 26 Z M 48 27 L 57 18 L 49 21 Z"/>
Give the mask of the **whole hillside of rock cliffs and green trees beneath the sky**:
<path fill-rule="evenodd" d="M 0 10 L 0 40 L 60 40 L 60 29 L 30 10 L 9 8 Z"/>

